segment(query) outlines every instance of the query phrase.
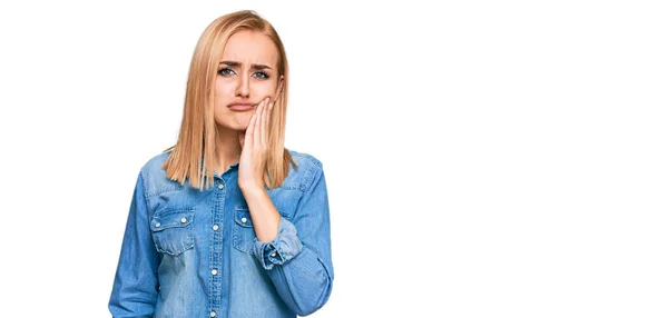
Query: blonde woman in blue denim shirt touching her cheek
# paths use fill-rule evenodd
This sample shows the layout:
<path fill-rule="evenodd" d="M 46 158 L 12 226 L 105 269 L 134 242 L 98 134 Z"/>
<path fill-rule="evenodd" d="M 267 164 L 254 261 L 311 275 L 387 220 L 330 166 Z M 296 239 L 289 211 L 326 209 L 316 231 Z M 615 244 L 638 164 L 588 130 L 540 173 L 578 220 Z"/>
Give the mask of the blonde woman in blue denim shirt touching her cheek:
<path fill-rule="evenodd" d="M 288 68 L 266 20 L 213 21 L 178 140 L 140 169 L 114 317 L 295 317 L 332 292 L 323 166 L 284 148 Z"/>

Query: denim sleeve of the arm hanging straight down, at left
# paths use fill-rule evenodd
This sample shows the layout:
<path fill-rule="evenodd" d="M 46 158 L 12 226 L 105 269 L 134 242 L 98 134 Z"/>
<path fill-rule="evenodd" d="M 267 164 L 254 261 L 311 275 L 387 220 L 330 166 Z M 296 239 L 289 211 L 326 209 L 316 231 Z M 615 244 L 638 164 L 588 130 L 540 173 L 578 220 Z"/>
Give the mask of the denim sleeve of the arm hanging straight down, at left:
<path fill-rule="evenodd" d="M 112 317 L 153 317 L 158 296 L 159 256 L 150 235 L 143 180 L 139 172 L 109 299 Z"/>

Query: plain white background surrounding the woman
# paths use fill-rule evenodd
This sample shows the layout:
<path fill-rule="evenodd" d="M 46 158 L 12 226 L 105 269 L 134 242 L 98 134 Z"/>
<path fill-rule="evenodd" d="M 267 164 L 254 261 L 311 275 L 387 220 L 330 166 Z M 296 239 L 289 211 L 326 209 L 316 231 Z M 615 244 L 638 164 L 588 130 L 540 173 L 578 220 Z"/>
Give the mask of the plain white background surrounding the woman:
<path fill-rule="evenodd" d="M 137 173 L 239 9 L 286 46 L 286 147 L 324 163 L 312 317 L 667 317 L 662 1 L 275 2 L 0 4 L 1 317 L 109 317 Z"/>

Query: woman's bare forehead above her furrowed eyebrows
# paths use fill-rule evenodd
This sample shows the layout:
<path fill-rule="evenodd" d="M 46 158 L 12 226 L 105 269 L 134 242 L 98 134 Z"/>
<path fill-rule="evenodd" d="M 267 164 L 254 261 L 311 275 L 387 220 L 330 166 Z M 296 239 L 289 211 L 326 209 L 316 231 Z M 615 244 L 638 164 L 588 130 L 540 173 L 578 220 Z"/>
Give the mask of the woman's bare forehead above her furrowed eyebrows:
<path fill-rule="evenodd" d="M 278 62 L 278 50 L 269 37 L 257 31 L 238 31 L 234 33 L 223 49 L 224 61 L 257 63 L 275 67 Z"/>

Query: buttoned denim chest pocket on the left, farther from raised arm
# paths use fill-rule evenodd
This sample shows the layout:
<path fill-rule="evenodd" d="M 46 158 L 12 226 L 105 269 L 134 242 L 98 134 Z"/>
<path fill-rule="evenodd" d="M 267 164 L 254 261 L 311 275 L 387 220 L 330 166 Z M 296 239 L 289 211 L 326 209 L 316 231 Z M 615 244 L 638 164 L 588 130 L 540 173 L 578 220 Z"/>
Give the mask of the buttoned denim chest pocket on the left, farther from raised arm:
<path fill-rule="evenodd" d="M 194 208 L 167 209 L 157 211 L 150 221 L 150 231 L 156 249 L 173 256 L 178 256 L 193 248 Z"/>

